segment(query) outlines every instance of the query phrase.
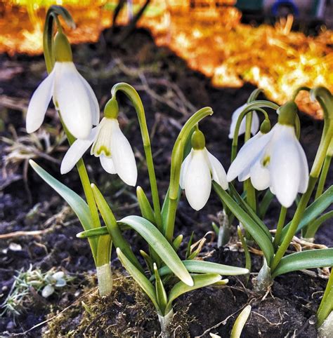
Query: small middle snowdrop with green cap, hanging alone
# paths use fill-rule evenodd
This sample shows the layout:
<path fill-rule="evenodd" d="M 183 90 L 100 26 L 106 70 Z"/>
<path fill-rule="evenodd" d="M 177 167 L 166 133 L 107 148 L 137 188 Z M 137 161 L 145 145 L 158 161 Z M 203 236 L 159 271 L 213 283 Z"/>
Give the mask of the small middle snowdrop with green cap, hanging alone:
<path fill-rule="evenodd" d="M 200 210 L 211 193 L 211 180 L 228 189 L 226 170 L 216 157 L 205 147 L 204 135 L 200 130 L 192 134 L 192 149 L 181 165 L 181 189 L 185 189 L 188 203 Z"/>

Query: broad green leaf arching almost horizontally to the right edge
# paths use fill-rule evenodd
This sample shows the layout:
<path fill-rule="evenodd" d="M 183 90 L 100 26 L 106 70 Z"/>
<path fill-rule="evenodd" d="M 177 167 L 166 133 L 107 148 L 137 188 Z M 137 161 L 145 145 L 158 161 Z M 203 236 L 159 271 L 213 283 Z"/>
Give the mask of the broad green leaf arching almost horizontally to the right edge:
<path fill-rule="evenodd" d="M 325 266 L 333 266 L 333 248 L 295 252 L 281 259 L 278 267 L 273 271 L 272 277 L 275 278 L 290 271 Z"/>

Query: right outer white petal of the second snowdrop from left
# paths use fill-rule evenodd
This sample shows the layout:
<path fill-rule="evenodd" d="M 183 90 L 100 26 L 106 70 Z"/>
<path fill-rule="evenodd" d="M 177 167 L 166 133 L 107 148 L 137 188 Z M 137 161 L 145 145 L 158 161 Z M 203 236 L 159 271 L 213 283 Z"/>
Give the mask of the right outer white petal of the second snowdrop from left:
<path fill-rule="evenodd" d="M 111 154 L 117 174 L 126 184 L 135 186 L 138 170 L 131 144 L 120 130 L 118 121 L 116 119 L 112 121 Z"/>

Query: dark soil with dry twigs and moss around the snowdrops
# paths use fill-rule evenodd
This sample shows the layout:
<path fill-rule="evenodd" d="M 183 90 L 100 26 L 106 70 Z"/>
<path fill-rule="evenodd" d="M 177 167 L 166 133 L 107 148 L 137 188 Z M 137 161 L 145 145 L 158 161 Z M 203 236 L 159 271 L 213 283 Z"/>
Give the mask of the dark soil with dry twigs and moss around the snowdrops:
<path fill-rule="evenodd" d="M 73 54 L 74 62 L 91 83 L 101 107 L 110 97 L 110 89 L 117 82 L 126 81 L 138 89 L 146 109 L 148 128 L 152 133 L 152 151 L 159 190 L 164 194 L 168 186 L 172 145 L 181 126 L 194 109 L 207 105 L 214 109 L 214 116 L 207 118 L 201 128 L 207 137 L 208 149 L 228 168 L 230 116 L 240 104 L 246 102 L 254 90 L 253 86 L 245 85 L 240 89 L 212 87 L 209 79 L 189 69 L 170 50 L 157 48 L 151 36 L 143 30 L 131 34 L 121 47 L 110 46 L 102 38 L 96 44 L 74 46 Z M 11 139 L 25 137 L 23 112 L 32 92 L 45 75 L 42 56 L 16 55 L 9 58 L 7 55 L 0 55 L 1 135 Z M 177 88 L 181 90 L 188 104 L 184 103 L 183 97 L 177 95 Z M 149 196 L 148 175 L 135 111 L 124 97 L 119 97 L 122 127 L 135 149 L 139 165 L 138 185 Z M 48 114 L 43 127 L 50 134 L 51 144 L 55 144 L 55 137 L 60 130 L 60 123 L 54 115 L 52 111 Z M 270 116 L 273 121 L 276 119 L 272 112 Z M 322 121 L 314 121 L 301 114 L 301 126 L 301 143 L 311 165 L 319 144 Z M 23 142 L 22 139 L 20 142 Z M 67 148 L 66 142 L 52 151 L 48 151 L 45 141 L 41 141 L 41 147 L 43 149 L 39 149 L 41 151 L 32 156 L 34 160 L 51 175 L 81 194 L 75 170 L 65 176 L 59 173 L 59 163 Z M 46 152 L 56 161 L 48 161 L 42 155 Z M 57 295 L 52 295 L 43 304 L 34 302 L 34 296 L 29 296 L 32 302 L 20 316 L 6 313 L 0 318 L 0 332 L 4 336 L 20 334 L 26 337 L 39 337 L 41 330 L 46 337 L 65 335 L 68 332 L 75 332 L 77 337 L 85 334 L 94 337 L 158 335 L 159 324 L 152 306 L 133 283 L 123 283 L 128 285 L 127 289 L 123 284 L 119 283 L 117 286 L 116 283 L 115 295 L 112 295 L 109 302 L 105 299 L 98 300 L 96 289 L 88 288 L 87 285 L 93 283 L 91 275 L 94 273 L 94 266 L 88 243 L 75 237 L 81 231 L 79 222 L 55 191 L 42 182 L 30 168 L 26 168 L 24 159 L 15 157 L 14 162 L 7 163 L 8 153 L 8 144 L 1 142 L 0 154 L 3 161 L 0 180 L 0 234 L 45 231 L 37 236 L 12 236 L 0 240 L 0 302 L 6 299 L 17 271 L 27 270 L 30 264 L 34 268 L 40 267 L 42 271 L 57 266 L 76 276 L 74 286 L 78 291 L 75 292 L 69 286 Z M 87 154 L 85 160 L 91 181 L 96 182 L 103 191 L 117 217 L 139 215 L 135 189 L 125 187 L 117 177 L 104 173 L 97 158 Z M 328 177 L 327 186 L 331 184 L 332 173 Z M 194 212 L 185 198 L 181 198 L 176 235 L 184 234 L 186 243 L 191 231 L 195 231 L 195 239 L 200 239 L 211 230 L 211 221 L 216 219 L 219 210 L 221 203 L 214 194 L 200 212 Z M 265 219 L 268 226 L 275 225 L 279 210 L 278 203 L 274 201 Z M 292 217 L 292 210 L 289 217 Z M 130 232 L 126 232 L 126 237 L 130 239 L 133 250 L 138 253 L 143 245 L 141 238 Z M 332 222 L 321 227 L 315 242 L 332 246 Z M 11 243 L 20 247 L 13 248 Z M 243 253 L 228 248 L 218 250 L 216 242 L 207 244 L 203 251 L 209 253 L 209 259 L 213 262 L 244 266 Z M 184 252 L 185 246 L 181 250 L 182 256 Z M 252 259 L 256 272 L 261 259 L 256 255 L 252 255 Z M 112 254 L 112 266 L 124 273 L 115 259 L 115 252 Z M 119 280 L 124 279 L 121 273 L 117 274 Z M 174 334 L 178 337 L 209 337 L 211 332 L 228 337 L 237 314 L 246 304 L 251 304 L 252 315 L 244 327 L 244 337 L 258 337 L 259 334 L 261 337 L 285 337 L 288 334 L 316 337 L 314 315 L 325 283 L 326 280 L 316 273 L 313 276 L 302 272 L 289 273 L 276 278 L 272 291 L 263 299 L 252 293 L 251 284 L 244 286 L 244 279 L 230 278 L 228 287 L 205 288 L 181 297 L 175 304 L 177 315 Z M 94 296 L 91 292 L 95 292 Z M 92 314 L 83 310 L 81 300 L 92 309 Z M 70 308 L 48 324 L 30 330 L 46 320 L 47 316 L 52 318 L 57 311 L 62 311 L 67 306 Z M 89 321 L 89 316 L 94 320 Z M 60 320 L 61 318 L 64 320 Z"/>

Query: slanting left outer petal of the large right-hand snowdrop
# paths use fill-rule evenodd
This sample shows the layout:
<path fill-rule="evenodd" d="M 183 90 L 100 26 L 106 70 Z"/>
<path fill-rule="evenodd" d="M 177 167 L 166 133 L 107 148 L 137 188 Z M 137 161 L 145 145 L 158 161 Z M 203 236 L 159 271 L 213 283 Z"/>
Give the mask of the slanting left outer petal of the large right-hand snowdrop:
<path fill-rule="evenodd" d="M 228 182 L 235 180 L 235 177 L 240 175 L 243 170 L 247 169 L 248 166 L 259 156 L 261 151 L 266 147 L 270 138 L 272 137 L 272 130 L 267 134 L 262 134 L 260 131 L 254 137 L 250 138 L 244 146 L 238 152 L 235 160 L 231 163 L 228 170 L 227 179 Z"/>

